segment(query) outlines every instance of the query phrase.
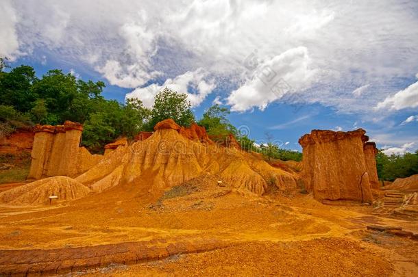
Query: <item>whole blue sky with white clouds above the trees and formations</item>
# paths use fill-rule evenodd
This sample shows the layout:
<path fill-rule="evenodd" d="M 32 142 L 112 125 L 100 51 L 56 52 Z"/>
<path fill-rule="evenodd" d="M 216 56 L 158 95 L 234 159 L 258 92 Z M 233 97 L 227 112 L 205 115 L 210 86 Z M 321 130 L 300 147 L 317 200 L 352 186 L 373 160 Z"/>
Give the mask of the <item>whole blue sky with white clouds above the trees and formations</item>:
<path fill-rule="evenodd" d="M 105 81 L 123 102 L 168 86 L 257 142 L 363 128 L 418 148 L 417 1 L 1 1 L 0 55 Z"/>

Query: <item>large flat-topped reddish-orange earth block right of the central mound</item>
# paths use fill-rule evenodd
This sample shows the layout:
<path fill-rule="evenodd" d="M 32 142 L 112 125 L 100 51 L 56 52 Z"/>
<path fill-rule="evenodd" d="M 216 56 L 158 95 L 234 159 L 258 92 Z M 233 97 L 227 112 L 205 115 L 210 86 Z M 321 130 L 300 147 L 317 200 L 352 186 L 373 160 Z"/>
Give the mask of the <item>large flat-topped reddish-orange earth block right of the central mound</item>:
<path fill-rule="evenodd" d="M 373 201 L 370 184 L 373 173 L 367 170 L 364 151 L 367 140 L 363 129 L 313 130 L 302 136 L 299 139 L 303 147 L 302 180 L 308 192 L 313 192 L 317 200 Z"/>

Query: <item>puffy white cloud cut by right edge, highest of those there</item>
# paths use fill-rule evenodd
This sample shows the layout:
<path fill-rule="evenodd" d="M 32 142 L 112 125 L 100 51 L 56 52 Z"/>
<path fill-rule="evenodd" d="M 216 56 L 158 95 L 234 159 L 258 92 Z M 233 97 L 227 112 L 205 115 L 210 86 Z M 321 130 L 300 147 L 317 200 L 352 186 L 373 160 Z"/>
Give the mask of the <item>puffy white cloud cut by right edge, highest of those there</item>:
<path fill-rule="evenodd" d="M 409 85 L 404 90 L 399 90 L 391 96 L 387 96 L 384 101 L 379 102 L 376 109 L 406 109 L 418 107 L 418 81 Z"/>

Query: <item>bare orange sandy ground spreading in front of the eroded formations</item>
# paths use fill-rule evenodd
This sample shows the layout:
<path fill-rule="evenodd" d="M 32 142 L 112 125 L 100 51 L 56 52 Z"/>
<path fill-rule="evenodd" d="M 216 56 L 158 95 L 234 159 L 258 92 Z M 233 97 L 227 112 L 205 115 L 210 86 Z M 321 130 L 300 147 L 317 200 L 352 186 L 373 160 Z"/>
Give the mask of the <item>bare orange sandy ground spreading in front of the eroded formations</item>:
<path fill-rule="evenodd" d="M 161 197 L 140 187 L 47 207 L 1 206 L 0 250 L 212 240 L 221 243 L 127 265 L 109 258 L 69 275 L 418 276 L 418 241 L 366 230 L 384 224 L 418 233 L 416 220 L 376 216 L 370 206 L 322 205 L 298 192 L 260 197 L 196 183 Z"/>

